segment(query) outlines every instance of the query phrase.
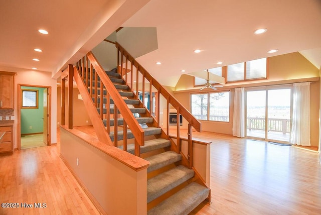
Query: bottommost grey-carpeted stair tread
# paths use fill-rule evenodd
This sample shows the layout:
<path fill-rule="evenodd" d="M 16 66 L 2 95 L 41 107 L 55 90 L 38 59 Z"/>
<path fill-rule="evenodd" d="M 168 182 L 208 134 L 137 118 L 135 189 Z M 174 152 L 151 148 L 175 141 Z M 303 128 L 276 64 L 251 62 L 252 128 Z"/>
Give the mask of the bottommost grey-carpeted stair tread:
<path fill-rule="evenodd" d="M 175 193 L 171 197 L 162 201 L 155 207 L 151 208 L 148 215 L 169 214 L 169 215 L 183 215 L 190 213 L 202 201 L 204 201 L 210 191 L 196 182 L 192 182 L 184 189 Z"/>

